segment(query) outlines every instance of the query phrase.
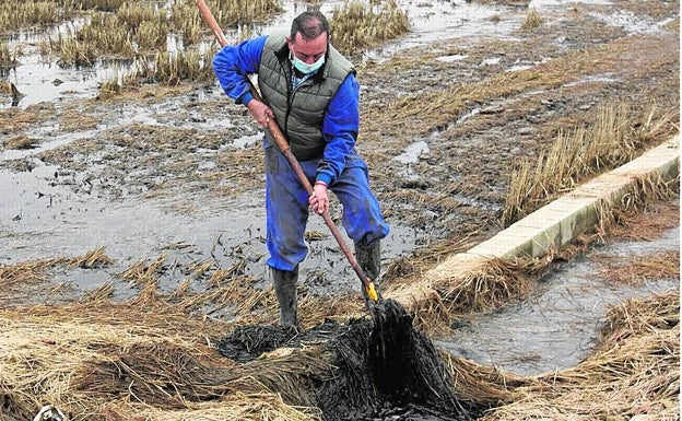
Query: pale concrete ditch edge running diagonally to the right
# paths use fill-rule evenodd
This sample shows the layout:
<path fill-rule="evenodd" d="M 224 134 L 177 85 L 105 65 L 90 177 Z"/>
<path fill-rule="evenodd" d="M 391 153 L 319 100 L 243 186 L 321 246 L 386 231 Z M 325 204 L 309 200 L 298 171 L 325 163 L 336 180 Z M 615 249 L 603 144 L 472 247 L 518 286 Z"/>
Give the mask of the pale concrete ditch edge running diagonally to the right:
<path fill-rule="evenodd" d="M 672 180 L 680 174 L 680 135 L 655 147 L 639 157 L 579 186 L 534 211 L 495 236 L 448 257 L 431 269 L 421 281 L 387 292 L 386 297 L 405 308 L 437 295 L 434 284 L 463 279 L 479 272 L 494 258 L 543 257 L 593 226 L 604 204 L 620 200 L 640 179 Z"/>

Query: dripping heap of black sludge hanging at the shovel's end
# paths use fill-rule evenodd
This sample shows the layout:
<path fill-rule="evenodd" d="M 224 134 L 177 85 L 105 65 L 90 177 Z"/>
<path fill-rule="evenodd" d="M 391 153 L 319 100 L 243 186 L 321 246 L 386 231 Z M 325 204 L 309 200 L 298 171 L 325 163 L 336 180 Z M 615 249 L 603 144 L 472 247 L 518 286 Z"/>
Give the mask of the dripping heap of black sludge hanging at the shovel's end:
<path fill-rule="evenodd" d="M 325 385 L 319 407 L 329 421 L 460 421 L 480 416 L 457 398 L 433 342 L 414 330 L 412 316 L 392 300 L 372 308 L 372 320 L 330 343 L 339 376 Z"/>

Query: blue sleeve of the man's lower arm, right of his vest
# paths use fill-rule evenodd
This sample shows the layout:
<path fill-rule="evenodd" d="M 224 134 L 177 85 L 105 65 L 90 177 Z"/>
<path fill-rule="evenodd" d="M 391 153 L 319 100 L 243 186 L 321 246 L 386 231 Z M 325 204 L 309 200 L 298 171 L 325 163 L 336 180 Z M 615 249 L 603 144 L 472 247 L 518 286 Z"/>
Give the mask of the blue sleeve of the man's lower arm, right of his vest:
<path fill-rule="evenodd" d="M 355 148 L 360 131 L 360 85 L 353 74 L 345 78 L 329 103 L 322 135 L 327 141 L 316 180 L 332 184 L 345 166 L 345 156 Z"/>

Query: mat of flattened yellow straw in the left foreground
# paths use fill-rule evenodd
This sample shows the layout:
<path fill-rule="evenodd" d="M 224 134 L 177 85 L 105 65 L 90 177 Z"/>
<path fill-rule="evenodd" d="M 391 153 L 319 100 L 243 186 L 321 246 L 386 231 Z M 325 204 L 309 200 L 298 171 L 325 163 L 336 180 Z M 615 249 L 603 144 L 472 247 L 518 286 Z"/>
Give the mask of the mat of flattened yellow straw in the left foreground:
<path fill-rule="evenodd" d="M 316 410 L 285 405 L 267 386 L 291 384 L 295 378 L 286 373 L 321 370 L 324 360 L 290 358 L 282 365 L 291 372 L 262 363 L 238 367 L 207 342 L 220 329 L 160 302 L 34 306 L 0 313 L 0 325 L 5 408 L 23 419 L 45 401 L 71 413 L 71 420 L 95 414 L 103 420 L 188 420 L 203 412 L 221 413 L 220 419 L 317 419 Z"/>

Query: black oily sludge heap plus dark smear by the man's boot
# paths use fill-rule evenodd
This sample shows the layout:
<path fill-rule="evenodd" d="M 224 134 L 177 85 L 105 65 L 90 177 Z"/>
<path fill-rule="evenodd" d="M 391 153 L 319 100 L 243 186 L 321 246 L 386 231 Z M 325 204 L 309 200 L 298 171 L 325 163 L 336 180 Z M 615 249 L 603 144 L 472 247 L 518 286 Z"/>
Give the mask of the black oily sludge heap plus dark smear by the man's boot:
<path fill-rule="evenodd" d="M 279 347 L 324 343 L 338 367 L 315 391 L 328 421 L 465 421 L 487 409 L 458 398 L 433 342 L 400 304 L 383 301 L 371 314 L 343 325 L 326 320 L 306 332 L 240 327 L 219 341 L 219 351 L 245 362 Z"/>

